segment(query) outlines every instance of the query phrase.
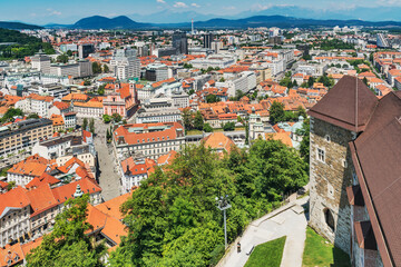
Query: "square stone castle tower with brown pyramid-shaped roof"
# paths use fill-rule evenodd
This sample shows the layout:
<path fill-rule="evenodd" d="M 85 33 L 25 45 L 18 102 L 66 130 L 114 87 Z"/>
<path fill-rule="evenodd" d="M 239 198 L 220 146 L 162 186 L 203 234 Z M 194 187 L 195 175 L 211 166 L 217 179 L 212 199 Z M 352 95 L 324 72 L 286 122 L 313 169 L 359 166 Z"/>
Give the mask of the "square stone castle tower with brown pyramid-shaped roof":
<path fill-rule="evenodd" d="M 346 187 L 353 184 L 349 142 L 369 122 L 378 99 L 356 77 L 342 78 L 310 111 L 310 226 L 351 255 Z"/>

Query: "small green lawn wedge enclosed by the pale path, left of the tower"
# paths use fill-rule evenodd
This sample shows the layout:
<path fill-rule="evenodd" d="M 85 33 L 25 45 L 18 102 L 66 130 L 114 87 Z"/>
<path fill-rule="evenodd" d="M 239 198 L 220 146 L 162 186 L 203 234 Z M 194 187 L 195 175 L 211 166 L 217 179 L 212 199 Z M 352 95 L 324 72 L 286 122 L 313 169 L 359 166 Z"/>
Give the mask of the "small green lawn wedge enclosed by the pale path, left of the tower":
<path fill-rule="evenodd" d="M 257 245 L 245 267 L 280 267 L 286 237 Z"/>

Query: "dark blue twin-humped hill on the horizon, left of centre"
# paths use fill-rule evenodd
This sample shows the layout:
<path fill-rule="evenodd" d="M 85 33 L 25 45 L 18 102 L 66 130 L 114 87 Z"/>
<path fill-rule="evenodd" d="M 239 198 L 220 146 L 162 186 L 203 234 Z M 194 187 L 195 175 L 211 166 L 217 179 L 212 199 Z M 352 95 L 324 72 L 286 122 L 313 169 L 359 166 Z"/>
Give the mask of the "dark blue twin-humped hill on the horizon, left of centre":
<path fill-rule="evenodd" d="M 78 20 L 70 28 L 75 29 L 139 29 L 150 27 L 148 23 L 139 23 L 126 16 L 119 16 L 113 19 L 94 16 Z"/>

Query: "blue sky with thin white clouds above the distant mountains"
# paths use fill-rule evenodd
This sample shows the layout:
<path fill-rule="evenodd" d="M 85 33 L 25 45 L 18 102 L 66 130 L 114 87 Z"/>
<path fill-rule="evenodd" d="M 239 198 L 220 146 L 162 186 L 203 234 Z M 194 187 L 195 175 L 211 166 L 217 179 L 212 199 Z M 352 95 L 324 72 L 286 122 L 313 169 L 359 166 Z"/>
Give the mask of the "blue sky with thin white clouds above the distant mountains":
<path fill-rule="evenodd" d="M 160 11 L 194 11 L 224 17 L 276 6 L 341 11 L 358 7 L 401 7 L 401 0 L 0 0 L 0 21 L 74 23 L 95 14 L 133 18 L 135 13 L 144 16 Z"/>

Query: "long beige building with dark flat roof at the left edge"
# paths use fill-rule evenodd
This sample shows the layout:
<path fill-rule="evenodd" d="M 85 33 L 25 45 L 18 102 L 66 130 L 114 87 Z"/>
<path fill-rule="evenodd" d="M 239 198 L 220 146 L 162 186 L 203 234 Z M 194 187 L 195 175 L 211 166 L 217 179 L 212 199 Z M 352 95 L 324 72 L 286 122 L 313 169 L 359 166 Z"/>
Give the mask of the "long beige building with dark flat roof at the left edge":
<path fill-rule="evenodd" d="M 29 149 L 37 141 L 50 138 L 52 134 L 52 121 L 43 118 L 0 127 L 0 155 Z"/>

